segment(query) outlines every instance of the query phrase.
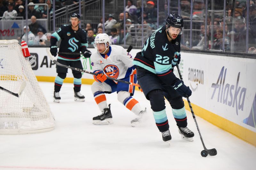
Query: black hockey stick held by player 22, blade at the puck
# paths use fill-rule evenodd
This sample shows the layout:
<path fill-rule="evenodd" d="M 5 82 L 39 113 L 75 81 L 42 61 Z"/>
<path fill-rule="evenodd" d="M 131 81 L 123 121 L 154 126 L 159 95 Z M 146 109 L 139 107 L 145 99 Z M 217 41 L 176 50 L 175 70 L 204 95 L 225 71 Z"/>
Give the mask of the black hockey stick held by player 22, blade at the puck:
<path fill-rule="evenodd" d="M 180 80 L 183 81 L 183 79 L 182 79 L 182 77 L 181 77 L 180 68 L 179 68 L 178 63 L 177 63 L 177 65 L 176 65 L 176 67 L 177 67 L 178 72 L 179 72 L 179 75 L 180 75 Z M 188 97 L 187 97 L 187 100 L 188 100 L 188 105 L 189 105 L 190 111 L 191 111 L 192 116 L 193 116 L 193 118 L 194 118 L 194 121 L 195 121 L 195 123 L 196 123 L 197 131 L 198 131 L 198 133 L 199 133 L 201 142 L 202 142 L 203 147 L 204 147 L 204 150 L 201 152 L 201 155 L 202 155 L 203 157 L 207 157 L 208 154 L 209 154 L 210 156 L 215 156 L 215 155 L 217 155 L 217 150 L 216 150 L 215 148 L 213 148 L 213 149 L 206 149 L 206 147 L 205 147 L 205 145 L 204 145 L 203 137 L 202 137 L 202 135 L 201 135 L 201 133 L 200 133 L 198 124 L 197 124 L 197 122 L 196 122 L 196 116 L 195 116 L 195 114 L 194 114 L 194 111 L 193 111 L 193 109 L 192 109 L 192 106 L 191 106 L 191 103 L 190 103 L 190 100 L 189 100 Z"/>

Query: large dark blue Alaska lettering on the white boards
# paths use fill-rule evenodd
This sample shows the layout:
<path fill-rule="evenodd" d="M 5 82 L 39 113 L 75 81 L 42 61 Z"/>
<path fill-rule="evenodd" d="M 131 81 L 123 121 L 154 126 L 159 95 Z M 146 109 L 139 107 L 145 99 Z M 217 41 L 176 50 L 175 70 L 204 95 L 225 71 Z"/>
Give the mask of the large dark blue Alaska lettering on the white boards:
<path fill-rule="evenodd" d="M 236 115 L 238 115 L 238 110 L 244 110 L 244 98 L 246 94 L 246 88 L 238 85 L 240 72 L 237 75 L 236 85 L 225 84 L 226 72 L 227 69 L 225 69 L 224 72 L 223 66 L 220 71 L 217 83 L 212 83 L 212 88 L 214 88 L 214 90 L 212 92 L 211 99 L 213 99 L 215 92 L 218 91 L 218 102 L 232 107 L 236 106 Z"/>

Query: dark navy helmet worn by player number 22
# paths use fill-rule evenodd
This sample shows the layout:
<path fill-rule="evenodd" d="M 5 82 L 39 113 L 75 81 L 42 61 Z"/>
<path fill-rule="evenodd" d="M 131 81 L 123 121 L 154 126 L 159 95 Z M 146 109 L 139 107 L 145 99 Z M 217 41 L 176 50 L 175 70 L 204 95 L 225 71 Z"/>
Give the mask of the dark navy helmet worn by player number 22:
<path fill-rule="evenodd" d="M 182 34 L 182 30 L 184 28 L 184 22 L 182 17 L 179 14 L 170 14 L 167 19 L 166 19 L 166 29 L 169 28 L 170 26 L 174 28 L 180 28 L 180 34 Z"/>

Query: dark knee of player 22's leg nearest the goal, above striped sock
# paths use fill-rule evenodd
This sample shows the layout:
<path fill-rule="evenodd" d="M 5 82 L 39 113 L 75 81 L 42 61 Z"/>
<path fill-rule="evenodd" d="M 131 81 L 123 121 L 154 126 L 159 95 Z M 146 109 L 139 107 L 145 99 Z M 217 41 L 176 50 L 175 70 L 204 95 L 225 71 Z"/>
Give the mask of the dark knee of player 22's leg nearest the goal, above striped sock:
<path fill-rule="evenodd" d="M 148 93 L 148 98 L 150 100 L 151 109 L 155 112 L 164 110 L 164 93 L 160 89 L 152 90 Z"/>

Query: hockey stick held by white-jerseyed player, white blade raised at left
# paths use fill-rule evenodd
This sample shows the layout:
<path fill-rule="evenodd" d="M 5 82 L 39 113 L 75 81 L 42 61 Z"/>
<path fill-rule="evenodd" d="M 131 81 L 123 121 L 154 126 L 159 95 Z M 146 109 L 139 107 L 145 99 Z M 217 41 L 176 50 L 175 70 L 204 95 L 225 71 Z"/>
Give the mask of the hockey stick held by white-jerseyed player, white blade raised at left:
<path fill-rule="evenodd" d="M 75 68 L 75 67 L 70 67 L 70 66 L 67 66 L 67 65 L 64 65 L 64 64 L 61 64 L 61 63 L 57 62 L 57 60 L 55 59 L 55 57 L 52 56 L 52 54 L 51 54 L 51 52 L 50 52 L 50 48 L 46 48 L 46 52 L 47 52 L 47 55 L 51 58 L 52 62 L 55 63 L 55 64 L 58 65 L 58 66 L 66 67 L 66 68 L 68 68 L 68 69 L 72 69 L 72 70 L 76 70 L 76 71 L 80 71 L 80 72 L 84 72 L 84 73 L 88 73 L 88 74 L 92 74 L 92 75 L 98 75 L 97 73 L 93 73 L 93 72 L 90 72 L 90 71 L 78 69 L 78 68 Z M 131 83 L 131 82 L 128 82 L 128 81 L 119 80 L 119 79 L 112 78 L 112 77 L 108 77 L 108 76 L 107 76 L 107 78 L 110 79 L 110 80 L 114 80 L 114 81 L 118 81 L 118 82 L 122 82 L 122 83 L 126 83 L 126 84 L 129 84 L 129 85 L 133 85 L 133 86 L 138 86 L 138 87 L 140 87 L 140 85 L 138 85 L 138 84 L 136 84 L 136 83 Z"/>

